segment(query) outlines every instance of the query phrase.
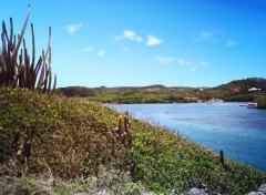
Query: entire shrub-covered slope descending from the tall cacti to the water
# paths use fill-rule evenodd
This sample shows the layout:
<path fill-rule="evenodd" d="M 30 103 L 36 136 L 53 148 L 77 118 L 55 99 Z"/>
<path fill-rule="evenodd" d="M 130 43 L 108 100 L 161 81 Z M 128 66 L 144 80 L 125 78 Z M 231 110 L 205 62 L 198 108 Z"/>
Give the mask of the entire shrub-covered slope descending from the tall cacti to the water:
<path fill-rule="evenodd" d="M 223 165 L 219 156 L 167 127 L 86 99 L 2 88 L 0 107 L 0 176 L 16 178 L 7 185 L 16 192 L 39 191 L 51 175 L 50 194 L 93 192 L 91 178 L 102 178 L 108 191 L 122 188 L 114 194 L 141 194 L 145 187 L 136 187 L 139 182 L 156 194 L 191 187 L 245 194 L 266 183 L 266 173 L 228 158 Z"/>

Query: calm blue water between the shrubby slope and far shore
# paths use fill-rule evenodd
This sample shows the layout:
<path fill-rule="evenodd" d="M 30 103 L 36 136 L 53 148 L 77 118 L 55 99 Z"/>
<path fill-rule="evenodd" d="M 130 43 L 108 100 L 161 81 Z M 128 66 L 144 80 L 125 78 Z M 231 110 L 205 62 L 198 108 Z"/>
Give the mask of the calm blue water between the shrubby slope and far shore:
<path fill-rule="evenodd" d="M 226 156 L 266 171 L 266 110 L 241 103 L 120 104 L 133 116 L 166 125 Z"/>

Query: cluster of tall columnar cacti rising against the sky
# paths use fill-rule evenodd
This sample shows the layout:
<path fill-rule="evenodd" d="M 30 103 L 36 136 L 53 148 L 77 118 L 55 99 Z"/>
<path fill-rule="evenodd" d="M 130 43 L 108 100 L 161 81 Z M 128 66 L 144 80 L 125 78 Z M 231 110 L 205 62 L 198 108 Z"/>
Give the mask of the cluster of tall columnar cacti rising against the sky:
<path fill-rule="evenodd" d="M 45 51 L 42 51 L 42 55 L 35 63 L 35 40 L 32 23 L 31 59 L 25 45 L 25 40 L 23 39 L 29 17 L 30 6 L 21 33 L 18 37 L 13 34 L 12 18 L 10 18 L 10 34 L 8 34 L 6 23 L 2 21 L 2 48 L 0 48 L 0 86 L 27 88 L 32 91 L 52 94 L 57 85 L 57 75 L 54 75 L 52 84 L 51 28 L 49 28 L 48 48 Z"/>

